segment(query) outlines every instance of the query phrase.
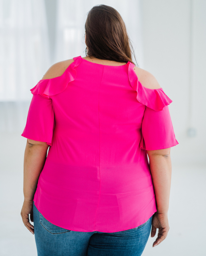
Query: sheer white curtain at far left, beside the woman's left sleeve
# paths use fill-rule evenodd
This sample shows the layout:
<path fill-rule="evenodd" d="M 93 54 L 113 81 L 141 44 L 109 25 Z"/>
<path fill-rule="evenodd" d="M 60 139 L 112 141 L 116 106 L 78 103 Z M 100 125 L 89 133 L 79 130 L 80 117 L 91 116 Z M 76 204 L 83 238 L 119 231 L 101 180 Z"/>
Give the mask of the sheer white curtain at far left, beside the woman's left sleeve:
<path fill-rule="evenodd" d="M 21 131 L 50 66 L 44 0 L 0 0 L 0 56 L 0 130 Z"/>

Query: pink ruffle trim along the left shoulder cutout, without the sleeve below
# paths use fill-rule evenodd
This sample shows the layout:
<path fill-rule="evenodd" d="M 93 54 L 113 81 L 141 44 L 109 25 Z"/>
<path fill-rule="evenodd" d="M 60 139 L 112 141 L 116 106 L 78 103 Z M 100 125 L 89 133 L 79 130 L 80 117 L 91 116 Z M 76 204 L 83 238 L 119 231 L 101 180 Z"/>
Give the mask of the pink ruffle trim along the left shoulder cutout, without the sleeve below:
<path fill-rule="evenodd" d="M 40 80 L 38 84 L 30 90 L 32 94 L 40 94 L 44 98 L 49 99 L 50 96 L 63 92 L 67 85 L 76 78 L 76 67 L 81 62 L 81 56 L 74 57 L 73 60 L 74 61 L 64 71 L 62 76 Z"/>

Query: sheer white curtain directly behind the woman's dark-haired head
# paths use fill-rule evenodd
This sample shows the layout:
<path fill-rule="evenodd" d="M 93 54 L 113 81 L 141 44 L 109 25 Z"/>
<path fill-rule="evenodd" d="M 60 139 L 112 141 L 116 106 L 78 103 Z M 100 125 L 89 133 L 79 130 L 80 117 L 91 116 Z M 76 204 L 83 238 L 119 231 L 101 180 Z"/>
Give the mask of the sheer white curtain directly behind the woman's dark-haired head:
<path fill-rule="evenodd" d="M 97 4 L 114 7 L 122 16 L 132 45 L 136 60 L 143 67 L 142 18 L 140 0 L 57 0 L 57 34 L 55 61 L 85 56 L 85 20 L 87 12 Z M 134 60 L 135 61 L 135 60 Z"/>

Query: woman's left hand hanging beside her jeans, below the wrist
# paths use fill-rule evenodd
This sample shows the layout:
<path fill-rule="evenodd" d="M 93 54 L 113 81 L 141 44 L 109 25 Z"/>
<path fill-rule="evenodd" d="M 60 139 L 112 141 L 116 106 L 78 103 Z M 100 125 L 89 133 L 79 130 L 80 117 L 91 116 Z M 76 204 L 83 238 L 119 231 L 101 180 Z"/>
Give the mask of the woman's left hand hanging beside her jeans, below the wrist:
<path fill-rule="evenodd" d="M 33 222 L 33 200 L 24 200 L 22 209 L 21 209 L 21 217 L 24 222 L 24 225 L 28 230 L 34 234 L 34 227 L 29 222 L 29 214 L 30 214 L 30 220 Z"/>

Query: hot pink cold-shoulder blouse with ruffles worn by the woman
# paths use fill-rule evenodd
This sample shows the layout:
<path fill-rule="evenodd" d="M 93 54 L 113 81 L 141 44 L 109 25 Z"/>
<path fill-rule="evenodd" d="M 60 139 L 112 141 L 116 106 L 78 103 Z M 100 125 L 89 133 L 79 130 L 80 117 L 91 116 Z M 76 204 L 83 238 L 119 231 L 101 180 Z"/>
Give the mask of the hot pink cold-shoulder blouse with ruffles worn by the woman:
<path fill-rule="evenodd" d="M 22 136 L 50 146 L 34 204 L 73 231 L 136 228 L 157 211 L 146 150 L 178 144 L 172 100 L 144 87 L 131 62 L 73 59 L 62 76 L 31 89 Z"/>

